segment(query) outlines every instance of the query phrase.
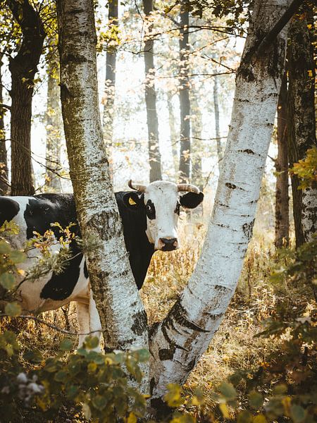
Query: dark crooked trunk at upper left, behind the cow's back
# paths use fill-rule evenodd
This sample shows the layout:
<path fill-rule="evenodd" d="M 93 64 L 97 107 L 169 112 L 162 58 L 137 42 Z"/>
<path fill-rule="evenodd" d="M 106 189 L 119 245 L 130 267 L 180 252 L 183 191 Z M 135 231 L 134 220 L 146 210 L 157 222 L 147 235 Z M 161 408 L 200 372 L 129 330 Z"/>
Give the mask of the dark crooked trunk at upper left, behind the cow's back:
<path fill-rule="evenodd" d="M 11 72 L 11 195 L 32 195 L 31 118 L 34 78 L 45 37 L 39 13 L 27 0 L 7 0 L 23 33 Z"/>

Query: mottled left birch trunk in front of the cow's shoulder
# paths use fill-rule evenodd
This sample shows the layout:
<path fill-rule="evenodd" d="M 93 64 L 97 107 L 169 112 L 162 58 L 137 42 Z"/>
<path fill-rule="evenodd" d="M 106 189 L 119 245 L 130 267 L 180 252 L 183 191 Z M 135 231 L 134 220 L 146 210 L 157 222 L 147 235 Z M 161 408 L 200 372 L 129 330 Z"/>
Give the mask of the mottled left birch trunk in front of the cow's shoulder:
<path fill-rule="evenodd" d="M 99 242 L 86 259 L 104 341 L 110 349 L 147 348 L 147 314 L 130 270 L 101 131 L 94 1 L 58 0 L 57 11 L 70 178 L 82 238 Z"/>

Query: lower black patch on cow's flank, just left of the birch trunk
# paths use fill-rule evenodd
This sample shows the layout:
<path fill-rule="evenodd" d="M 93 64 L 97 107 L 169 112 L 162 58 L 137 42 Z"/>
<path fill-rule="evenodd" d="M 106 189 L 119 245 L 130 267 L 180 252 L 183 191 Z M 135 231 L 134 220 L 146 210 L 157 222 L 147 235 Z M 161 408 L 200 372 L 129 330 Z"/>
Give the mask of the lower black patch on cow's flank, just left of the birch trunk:
<path fill-rule="evenodd" d="M 82 254 L 80 254 L 80 249 L 72 241 L 70 243 L 70 251 L 72 252 L 73 258 L 70 259 L 66 268 L 60 274 L 55 274 L 51 276 L 51 279 L 46 283 L 44 288 L 39 295 L 40 298 L 50 298 L 51 300 L 66 300 L 75 288 L 75 285 L 80 276 L 80 262 L 82 261 Z"/>

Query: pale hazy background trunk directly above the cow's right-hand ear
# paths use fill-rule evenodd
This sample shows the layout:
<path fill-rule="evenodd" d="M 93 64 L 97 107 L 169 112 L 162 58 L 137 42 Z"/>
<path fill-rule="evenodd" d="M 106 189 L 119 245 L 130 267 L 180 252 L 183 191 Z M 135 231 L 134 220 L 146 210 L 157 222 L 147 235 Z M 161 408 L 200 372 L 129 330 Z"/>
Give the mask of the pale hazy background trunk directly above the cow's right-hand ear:
<path fill-rule="evenodd" d="M 202 190 L 202 166 L 201 158 L 203 152 L 201 149 L 201 129 L 202 129 L 202 114 L 197 97 L 192 94 L 190 97 L 190 104 L 192 106 L 192 183 L 197 185 Z M 202 206 L 201 206 L 202 207 Z"/>

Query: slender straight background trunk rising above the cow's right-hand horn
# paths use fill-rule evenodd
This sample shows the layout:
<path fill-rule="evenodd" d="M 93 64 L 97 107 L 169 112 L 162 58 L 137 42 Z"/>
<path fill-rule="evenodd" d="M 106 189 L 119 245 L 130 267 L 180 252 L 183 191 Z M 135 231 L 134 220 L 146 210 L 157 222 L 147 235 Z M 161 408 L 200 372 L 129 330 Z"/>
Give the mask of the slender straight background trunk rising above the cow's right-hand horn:
<path fill-rule="evenodd" d="M 190 179 L 189 1 L 180 6 L 180 183 Z"/>

